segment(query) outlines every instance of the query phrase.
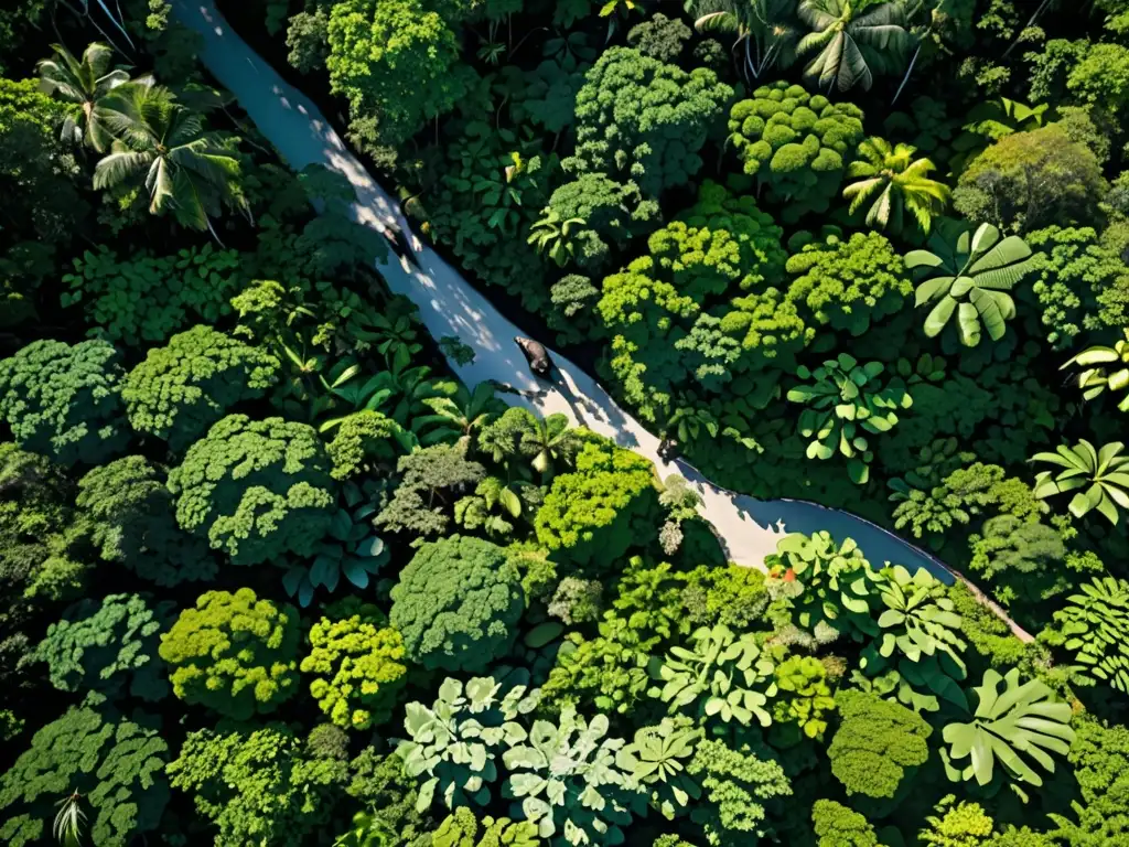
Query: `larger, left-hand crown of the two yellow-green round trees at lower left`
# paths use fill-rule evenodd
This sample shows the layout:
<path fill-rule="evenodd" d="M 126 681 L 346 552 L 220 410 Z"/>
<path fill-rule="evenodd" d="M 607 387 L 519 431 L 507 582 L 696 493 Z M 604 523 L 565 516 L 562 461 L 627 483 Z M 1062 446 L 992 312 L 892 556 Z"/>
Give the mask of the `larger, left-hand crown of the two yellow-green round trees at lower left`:
<path fill-rule="evenodd" d="M 227 717 L 268 713 L 298 684 L 298 613 L 251 588 L 210 591 L 160 637 L 173 692 Z"/>

